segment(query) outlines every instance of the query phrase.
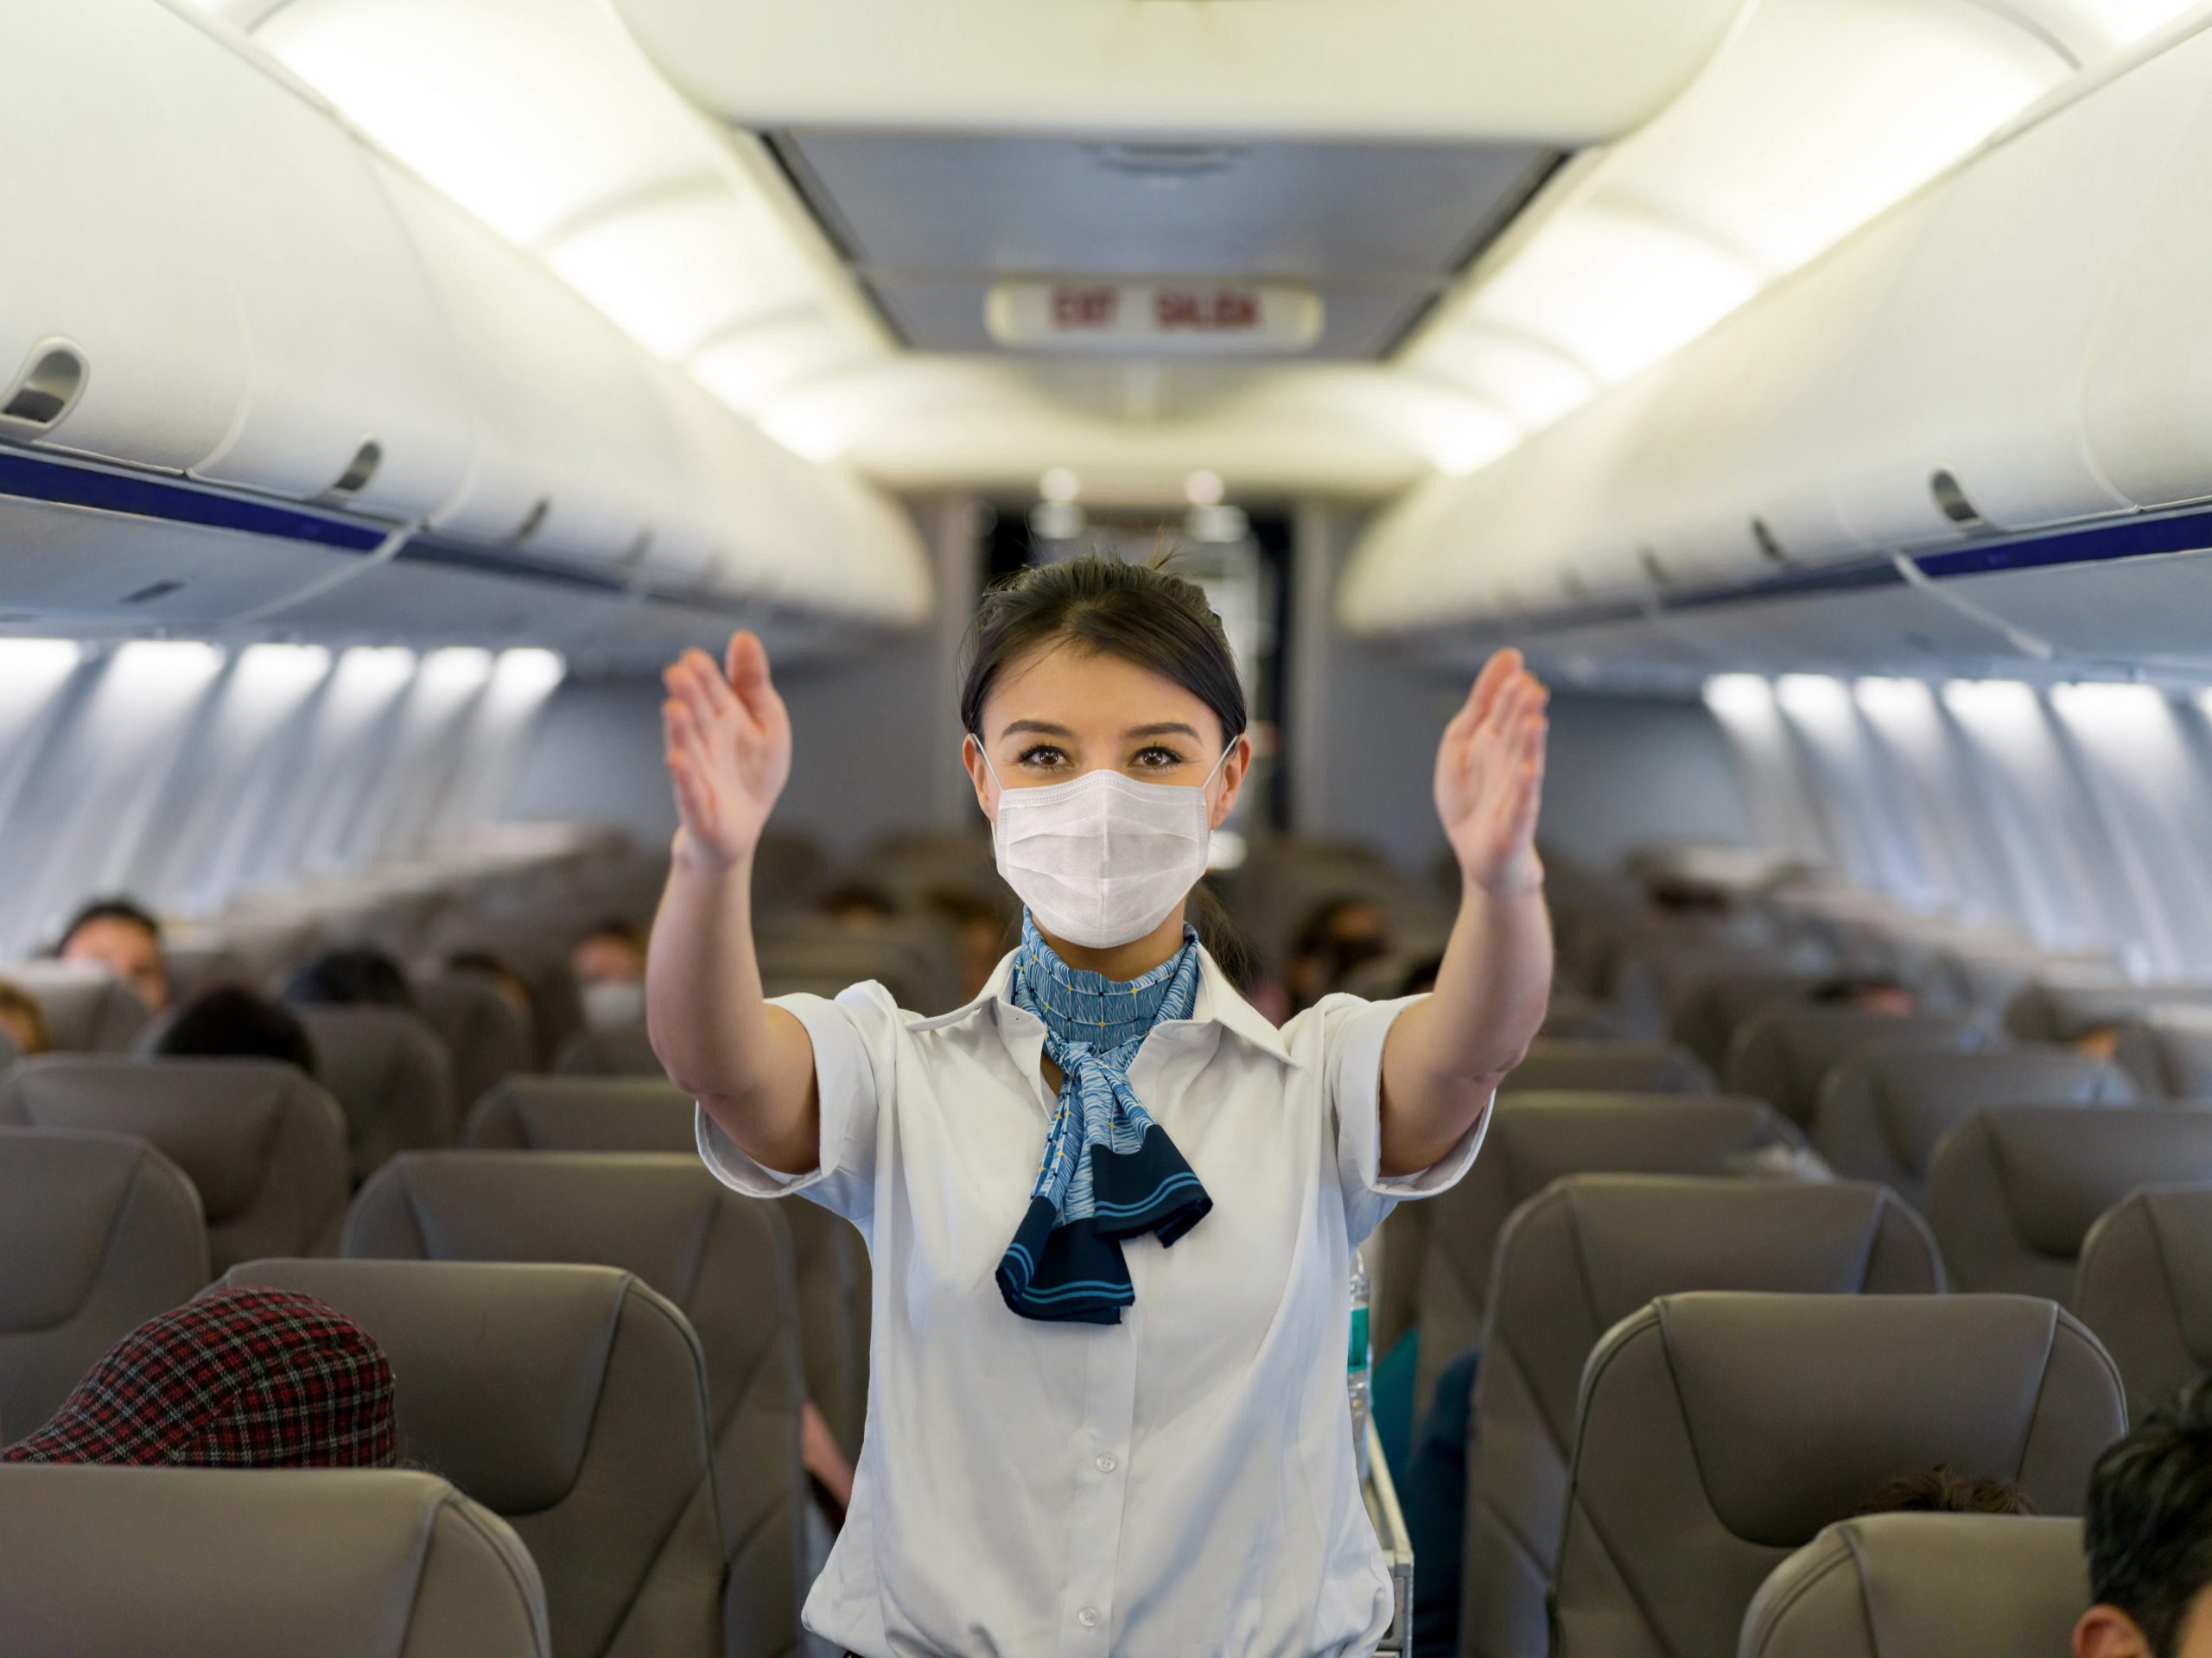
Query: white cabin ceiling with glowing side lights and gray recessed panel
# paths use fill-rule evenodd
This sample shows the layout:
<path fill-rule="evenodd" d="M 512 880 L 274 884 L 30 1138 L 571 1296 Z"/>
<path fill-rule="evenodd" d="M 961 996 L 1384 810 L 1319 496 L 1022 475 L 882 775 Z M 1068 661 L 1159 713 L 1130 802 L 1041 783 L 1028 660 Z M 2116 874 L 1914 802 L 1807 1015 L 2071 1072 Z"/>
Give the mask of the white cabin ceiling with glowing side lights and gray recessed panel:
<path fill-rule="evenodd" d="M 1124 500 L 1475 471 L 2183 9 L 197 4 L 790 449 Z M 984 327 L 1020 276 L 1285 279 L 1321 325 L 1020 351 Z"/>

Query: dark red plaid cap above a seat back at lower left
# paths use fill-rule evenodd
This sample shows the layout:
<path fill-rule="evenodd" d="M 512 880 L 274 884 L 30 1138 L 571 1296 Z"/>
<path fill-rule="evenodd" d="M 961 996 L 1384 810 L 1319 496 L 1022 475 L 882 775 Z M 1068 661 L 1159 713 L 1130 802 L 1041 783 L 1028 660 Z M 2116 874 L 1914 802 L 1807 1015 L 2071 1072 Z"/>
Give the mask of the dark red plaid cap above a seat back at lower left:
<path fill-rule="evenodd" d="M 0 1461 L 392 1468 L 392 1364 L 312 1295 L 226 1289 L 131 1331 Z"/>

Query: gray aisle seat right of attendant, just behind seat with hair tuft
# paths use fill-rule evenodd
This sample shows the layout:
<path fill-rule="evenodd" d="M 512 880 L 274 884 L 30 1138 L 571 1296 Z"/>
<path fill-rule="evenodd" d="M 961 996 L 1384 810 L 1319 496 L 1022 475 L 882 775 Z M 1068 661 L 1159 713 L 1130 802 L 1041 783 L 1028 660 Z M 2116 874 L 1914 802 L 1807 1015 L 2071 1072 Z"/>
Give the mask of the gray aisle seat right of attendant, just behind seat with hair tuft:
<path fill-rule="evenodd" d="M 1460 1651 L 1542 1658 L 1575 1395 L 1599 1337 L 1692 1289 L 1931 1295 L 1936 1240 L 1876 1185 L 1579 1174 L 1513 1211 L 1475 1382 Z"/>

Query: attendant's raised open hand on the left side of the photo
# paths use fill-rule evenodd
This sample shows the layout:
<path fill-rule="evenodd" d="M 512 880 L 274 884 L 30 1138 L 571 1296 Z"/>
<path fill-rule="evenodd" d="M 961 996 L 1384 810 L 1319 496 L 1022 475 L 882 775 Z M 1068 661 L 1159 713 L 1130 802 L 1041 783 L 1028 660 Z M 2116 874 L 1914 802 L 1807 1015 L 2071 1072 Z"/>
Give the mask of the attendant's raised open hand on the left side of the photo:
<path fill-rule="evenodd" d="M 723 871 L 752 858 L 792 776 L 792 716 L 768 679 L 768 652 L 730 637 L 723 668 L 686 650 L 661 674 L 661 732 L 677 791 L 677 858 Z"/>

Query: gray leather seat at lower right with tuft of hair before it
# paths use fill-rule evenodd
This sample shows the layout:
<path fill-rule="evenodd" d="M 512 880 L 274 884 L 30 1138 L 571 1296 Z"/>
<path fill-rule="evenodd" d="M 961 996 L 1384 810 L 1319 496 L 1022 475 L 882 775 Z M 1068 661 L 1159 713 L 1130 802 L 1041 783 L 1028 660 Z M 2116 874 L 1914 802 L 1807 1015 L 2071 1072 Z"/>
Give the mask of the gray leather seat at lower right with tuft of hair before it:
<path fill-rule="evenodd" d="M 1661 1298 L 1584 1373 L 1553 1658 L 1732 1651 L 1767 1574 L 1896 1475 L 2077 1514 L 2124 1430 L 2112 1360 L 2053 1302 Z"/>

